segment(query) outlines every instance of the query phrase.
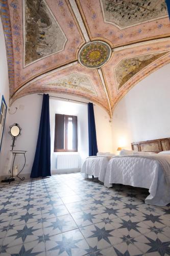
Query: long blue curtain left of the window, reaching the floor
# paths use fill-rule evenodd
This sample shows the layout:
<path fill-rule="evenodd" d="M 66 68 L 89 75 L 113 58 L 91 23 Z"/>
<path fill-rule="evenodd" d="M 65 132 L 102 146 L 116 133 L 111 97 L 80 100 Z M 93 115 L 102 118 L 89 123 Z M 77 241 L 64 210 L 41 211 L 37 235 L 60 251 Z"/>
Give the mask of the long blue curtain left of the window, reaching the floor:
<path fill-rule="evenodd" d="M 51 176 L 49 95 L 43 95 L 41 119 L 31 178 Z"/>

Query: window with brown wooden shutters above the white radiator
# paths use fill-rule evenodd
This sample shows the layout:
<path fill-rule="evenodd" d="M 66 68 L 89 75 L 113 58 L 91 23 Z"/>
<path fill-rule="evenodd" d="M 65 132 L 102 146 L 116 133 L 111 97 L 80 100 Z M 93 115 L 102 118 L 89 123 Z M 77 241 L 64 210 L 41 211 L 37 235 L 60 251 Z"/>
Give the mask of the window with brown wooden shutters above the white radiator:
<path fill-rule="evenodd" d="M 56 114 L 54 152 L 77 152 L 77 116 Z"/>

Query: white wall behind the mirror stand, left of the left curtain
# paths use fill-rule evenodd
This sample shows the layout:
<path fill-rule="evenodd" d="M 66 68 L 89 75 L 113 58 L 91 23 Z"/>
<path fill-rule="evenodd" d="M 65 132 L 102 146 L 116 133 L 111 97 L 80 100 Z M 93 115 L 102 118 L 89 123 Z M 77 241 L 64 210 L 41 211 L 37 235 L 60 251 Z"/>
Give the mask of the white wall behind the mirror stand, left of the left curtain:
<path fill-rule="evenodd" d="M 1 161 L 0 176 L 6 175 L 8 166 L 9 151 L 11 150 L 12 137 L 8 134 L 9 126 L 13 123 L 18 123 L 21 127 L 21 136 L 15 141 L 14 150 L 26 150 L 26 166 L 23 169 L 23 173 L 30 173 L 32 164 L 34 161 L 34 155 L 36 150 L 36 143 L 39 130 L 40 114 L 42 106 L 42 97 L 36 94 L 28 95 L 16 100 L 11 108 L 10 112 L 15 111 L 15 107 L 18 108 L 17 112 L 13 115 L 9 115 L 6 121 L 7 131 L 5 134 L 5 144 L 2 148 L 3 158 Z M 23 158 L 21 156 L 16 159 L 17 165 L 21 167 Z"/>

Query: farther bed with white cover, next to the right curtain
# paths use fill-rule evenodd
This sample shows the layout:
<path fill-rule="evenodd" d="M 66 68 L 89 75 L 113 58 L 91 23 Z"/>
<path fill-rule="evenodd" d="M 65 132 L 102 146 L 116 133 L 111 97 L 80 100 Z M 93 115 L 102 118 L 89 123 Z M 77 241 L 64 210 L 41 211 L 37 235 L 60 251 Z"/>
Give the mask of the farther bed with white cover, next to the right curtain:
<path fill-rule="evenodd" d="M 113 156 L 115 155 L 98 154 L 97 156 L 87 157 L 81 168 L 84 178 L 87 179 L 90 175 L 92 177 L 98 177 L 100 181 L 104 182 L 108 161 Z"/>

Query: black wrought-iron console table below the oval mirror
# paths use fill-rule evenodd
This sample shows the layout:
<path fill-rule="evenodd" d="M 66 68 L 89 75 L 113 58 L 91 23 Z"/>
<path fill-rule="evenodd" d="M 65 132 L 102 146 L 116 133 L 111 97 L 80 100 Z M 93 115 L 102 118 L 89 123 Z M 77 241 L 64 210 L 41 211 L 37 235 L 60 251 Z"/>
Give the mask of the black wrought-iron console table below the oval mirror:
<path fill-rule="evenodd" d="M 10 183 L 11 181 L 15 180 L 14 177 L 18 177 L 20 180 L 25 180 L 25 177 L 20 178 L 19 174 L 22 172 L 23 168 L 26 165 L 26 152 L 27 151 L 25 151 L 25 150 L 14 150 L 14 151 L 12 151 L 11 150 L 11 152 L 14 155 L 14 159 L 13 159 L 13 162 L 12 162 L 12 169 L 10 170 L 11 175 L 8 178 L 5 178 L 5 180 L 3 182 L 9 182 Z M 22 154 L 25 161 L 24 161 L 24 164 L 23 164 L 23 167 L 21 168 L 21 170 L 19 170 L 18 174 L 16 176 L 14 176 L 13 175 L 14 162 L 15 162 L 15 157 L 16 157 L 17 154 Z"/>

